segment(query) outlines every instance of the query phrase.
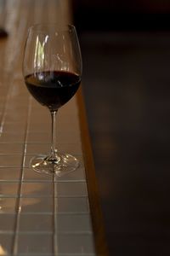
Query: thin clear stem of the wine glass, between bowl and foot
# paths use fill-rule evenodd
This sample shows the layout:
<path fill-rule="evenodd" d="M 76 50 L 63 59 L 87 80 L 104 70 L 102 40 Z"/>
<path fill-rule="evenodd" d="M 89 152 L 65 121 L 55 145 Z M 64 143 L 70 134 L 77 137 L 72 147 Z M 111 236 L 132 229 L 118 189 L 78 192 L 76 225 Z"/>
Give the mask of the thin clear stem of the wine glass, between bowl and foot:
<path fill-rule="evenodd" d="M 51 137 L 51 156 L 50 158 L 57 159 L 57 149 L 55 148 L 55 119 L 57 111 L 50 111 L 52 121 L 52 137 Z"/>

